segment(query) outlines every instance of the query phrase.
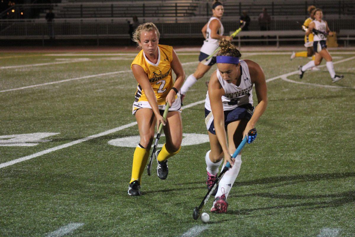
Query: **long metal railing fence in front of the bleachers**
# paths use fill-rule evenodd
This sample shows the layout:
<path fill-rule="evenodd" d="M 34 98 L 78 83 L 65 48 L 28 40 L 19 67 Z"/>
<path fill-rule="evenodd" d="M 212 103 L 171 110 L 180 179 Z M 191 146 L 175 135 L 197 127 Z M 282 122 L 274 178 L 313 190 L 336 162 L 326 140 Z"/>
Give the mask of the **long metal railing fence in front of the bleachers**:
<path fill-rule="evenodd" d="M 299 19 L 302 21 L 303 19 Z M 199 37 L 205 22 L 188 23 L 156 23 L 161 37 Z M 236 21 L 223 23 L 225 32 L 234 31 L 239 27 Z M 332 31 L 355 29 L 355 20 L 328 20 Z M 259 30 L 257 21 L 252 21 L 250 30 Z M 271 30 L 301 30 L 294 20 L 273 21 Z M 129 38 L 127 23 L 111 20 L 0 20 L 0 39 L 6 38 Z"/>

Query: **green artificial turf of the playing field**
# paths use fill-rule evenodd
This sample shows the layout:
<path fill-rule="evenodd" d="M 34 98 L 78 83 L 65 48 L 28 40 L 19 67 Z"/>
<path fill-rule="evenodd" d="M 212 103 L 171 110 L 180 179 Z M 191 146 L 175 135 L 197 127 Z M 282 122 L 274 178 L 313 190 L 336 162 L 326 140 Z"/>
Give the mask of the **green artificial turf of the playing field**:
<path fill-rule="evenodd" d="M 197 61 L 193 54 L 179 58 L 182 63 Z M 331 54 L 336 63 L 355 52 Z M 296 71 L 310 60 L 242 55 L 260 64 L 266 79 Z M 129 70 L 134 56 L 0 53 L 0 65 L 78 58 L 91 60 L 0 69 L 0 91 Z M 68 223 L 83 223 L 71 236 L 182 236 L 199 225 L 206 229 L 198 236 L 206 237 L 317 236 L 325 228 L 336 229 L 336 236 L 355 236 L 354 61 L 334 64 L 337 74 L 345 76 L 335 84 L 325 66 L 306 72 L 302 80 L 295 74 L 287 77 L 293 82 L 267 83 L 268 107 L 256 125 L 257 139 L 242 152 L 228 212 L 209 212 L 211 197 L 205 206 L 208 224 L 193 220 L 192 210 L 207 192 L 204 157 L 209 143 L 183 146 L 169 160 L 165 181 L 154 170 L 151 177 L 144 171 L 143 195 L 131 197 L 127 189 L 134 148 L 108 141 L 138 135 L 133 125 L 0 168 L 0 236 L 46 236 Z M 196 65 L 184 65 L 186 76 Z M 206 97 L 204 82 L 215 68 L 191 88 L 184 105 Z M 36 146 L 0 146 L 0 163 L 135 122 L 136 86 L 131 72 L 121 72 L 0 92 L 0 136 L 59 133 Z M 182 123 L 184 133 L 207 134 L 204 104 L 184 109 Z"/>

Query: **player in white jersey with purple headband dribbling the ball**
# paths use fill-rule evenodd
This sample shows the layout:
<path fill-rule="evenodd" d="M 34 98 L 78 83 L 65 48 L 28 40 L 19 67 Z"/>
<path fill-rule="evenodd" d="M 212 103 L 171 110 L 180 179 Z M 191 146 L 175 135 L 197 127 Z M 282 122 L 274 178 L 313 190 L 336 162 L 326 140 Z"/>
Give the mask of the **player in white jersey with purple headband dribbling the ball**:
<path fill-rule="evenodd" d="M 230 168 L 219 182 L 212 212 L 227 211 L 226 201 L 241 166 L 241 153 L 231 158 L 236 147 L 248 135 L 267 107 L 267 87 L 261 67 L 241 54 L 235 45 L 223 39 L 217 53 L 217 70 L 208 84 L 205 102 L 205 122 L 211 150 L 206 153 L 207 187 L 217 178 L 219 166 L 227 161 Z M 252 89 L 255 85 L 258 104 L 253 107 Z M 228 142 L 227 142 L 228 135 Z M 255 136 L 248 136 L 248 143 Z M 223 160 L 224 158 L 224 160 Z"/>

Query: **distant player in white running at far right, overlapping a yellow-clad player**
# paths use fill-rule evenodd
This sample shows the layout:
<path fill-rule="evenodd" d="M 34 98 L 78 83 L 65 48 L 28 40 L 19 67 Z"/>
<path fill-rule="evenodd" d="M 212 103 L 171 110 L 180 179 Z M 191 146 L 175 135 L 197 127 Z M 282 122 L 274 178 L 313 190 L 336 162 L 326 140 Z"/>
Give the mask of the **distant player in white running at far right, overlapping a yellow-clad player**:
<path fill-rule="evenodd" d="M 314 61 L 310 61 L 306 65 L 298 67 L 300 78 L 303 77 L 303 74 L 307 69 L 312 68 L 315 65 L 316 66 L 319 65 L 322 59 L 324 58 L 327 61 L 326 63 L 327 69 L 329 71 L 329 74 L 332 77 L 332 82 L 337 82 L 343 79 L 344 76 L 335 75 L 333 59 L 327 50 L 327 44 L 326 44 L 327 34 L 329 34 L 329 36 L 332 36 L 333 32 L 329 30 L 327 22 L 322 20 L 323 12 L 321 9 L 316 9 L 314 11 L 314 16 L 315 16 L 315 20 L 312 21 L 308 26 L 308 30 L 306 31 L 306 36 L 308 36 L 312 32 L 314 33 L 313 51 L 315 52 L 316 57 Z"/>

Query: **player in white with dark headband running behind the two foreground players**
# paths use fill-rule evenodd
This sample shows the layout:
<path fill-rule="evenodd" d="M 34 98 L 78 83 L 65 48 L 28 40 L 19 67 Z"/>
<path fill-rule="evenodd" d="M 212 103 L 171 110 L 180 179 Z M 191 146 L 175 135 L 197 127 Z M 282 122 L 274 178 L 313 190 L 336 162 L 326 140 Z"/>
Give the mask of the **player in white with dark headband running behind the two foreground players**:
<path fill-rule="evenodd" d="M 214 1 L 212 5 L 213 16 L 202 28 L 202 34 L 205 40 L 200 49 L 200 56 L 198 60 L 200 63 L 197 65 L 196 71 L 187 77 L 180 89 L 181 102 L 183 101 L 186 92 L 189 91 L 190 87 L 193 86 L 198 79 L 203 77 L 203 75 L 216 63 L 216 57 L 211 57 L 208 60 L 209 55 L 211 55 L 217 48 L 218 42 L 221 39 L 230 40 L 230 36 L 223 36 L 224 28 L 221 22 L 223 16 L 224 8 L 222 3 L 219 1 Z"/>

